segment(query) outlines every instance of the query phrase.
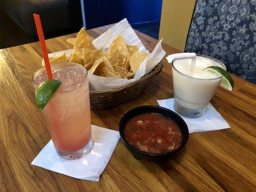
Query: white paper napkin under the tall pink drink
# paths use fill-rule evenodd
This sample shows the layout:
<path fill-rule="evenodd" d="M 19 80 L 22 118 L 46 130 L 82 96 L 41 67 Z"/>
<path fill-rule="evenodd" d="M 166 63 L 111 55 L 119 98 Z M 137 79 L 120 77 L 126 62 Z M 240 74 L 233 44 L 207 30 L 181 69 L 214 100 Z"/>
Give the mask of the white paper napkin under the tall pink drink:
<path fill-rule="evenodd" d="M 68 160 L 60 157 L 50 140 L 31 164 L 74 178 L 98 181 L 120 139 L 120 134 L 92 125 L 92 137 L 93 147 L 81 159 Z"/>

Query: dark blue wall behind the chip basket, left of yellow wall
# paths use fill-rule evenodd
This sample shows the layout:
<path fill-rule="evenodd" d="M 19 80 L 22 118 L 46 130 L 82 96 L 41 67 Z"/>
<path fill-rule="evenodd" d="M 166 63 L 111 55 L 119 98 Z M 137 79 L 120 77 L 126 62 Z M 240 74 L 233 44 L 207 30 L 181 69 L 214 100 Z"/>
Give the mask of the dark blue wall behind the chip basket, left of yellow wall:
<path fill-rule="evenodd" d="M 86 29 L 119 22 L 160 21 L 162 0 L 84 0 Z"/>

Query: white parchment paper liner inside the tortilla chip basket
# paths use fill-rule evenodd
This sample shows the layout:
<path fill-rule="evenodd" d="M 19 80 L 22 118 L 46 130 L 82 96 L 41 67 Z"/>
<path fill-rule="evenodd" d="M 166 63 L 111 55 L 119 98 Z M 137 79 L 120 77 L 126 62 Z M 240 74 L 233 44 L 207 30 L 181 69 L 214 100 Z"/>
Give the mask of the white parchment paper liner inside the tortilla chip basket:
<path fill-rule="evenodd" d="M 98 36 L 93 41 L 93 44 L 98 49 L 107 50 L 115 39 L 116 36 L 122 35 L 126 44 L 136 45 L 139 48 L 140 52 L 149 53 L 149 51 L 144 47 L 139 37 L 135 34 L 133 28 L 128 23 L 127 19 L 124 18 L 122 21 L 114 24 L 110 27 L 105 33 L 101 36 Z M 140 79 L 143 75 L 150 72 L 159 62 L 163 59 L 166 52 L 161 47 L 162 39 L 158 42 L 152 53 L 150 53 L 147 58 L 142 62 L 138 71 L 135 73 L 133 79 L 120 79 L 120 78 L 111 78 L 111 77 L 100 77 L 97 75 L 93 75 L 88 73 L 88 79 L 91 90 L 106 90 L 111 88 L 118 88 L 125 86 L 127 84 L 131 84 L 134 81 Z M 73 53 L 73 49 L 63 50 L 66 51 L 67 55 L 71 55 Z M 50 53 L 49 57 L 57 56 L 63 53 L 63 51 Z M 44 62 L 42 62 L 44 65 Z"/>

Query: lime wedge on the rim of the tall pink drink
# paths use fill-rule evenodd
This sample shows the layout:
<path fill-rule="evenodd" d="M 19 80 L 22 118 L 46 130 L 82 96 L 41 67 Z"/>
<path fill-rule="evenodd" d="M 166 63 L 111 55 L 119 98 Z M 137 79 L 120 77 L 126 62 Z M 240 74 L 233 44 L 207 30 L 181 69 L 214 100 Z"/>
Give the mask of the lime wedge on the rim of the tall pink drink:
<path fill-rule="evenodd" d="M 36 102 L 37 107 L 40 110 L 43 110 L 60 85 L 61 81 L 59 80 L 49 80 L 38 86 L 36 91 Z"/>

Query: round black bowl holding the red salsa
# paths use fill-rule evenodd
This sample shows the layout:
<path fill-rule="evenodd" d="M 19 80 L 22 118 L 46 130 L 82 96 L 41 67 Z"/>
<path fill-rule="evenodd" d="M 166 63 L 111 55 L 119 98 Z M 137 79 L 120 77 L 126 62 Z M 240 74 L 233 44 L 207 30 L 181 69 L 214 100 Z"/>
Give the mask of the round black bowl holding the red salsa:
<path fill-rule="evenodd" d="M 150 153 L 140 151 L 140 150 L 134 148 L 131 144 L 129 144 L 124 138 L 124 134 L 123 134 L 124 126 L 128 120 L 130 120 L 131 118 L 133 118 L 136 115 L 143 114 L 143 113 L 158 113 L 165 117 L 171 118 L 173 121 L 175 121 L 177 123 L 177 125 L 179 126 L 180 130 L 182 131 L 182 135 L 183 135 L 183 141 L 182 141 L 181 146 L 169 153 L 150 154 Z M 145 159 L 145 160 L 149 160 L 149 161 L 159 161 L 164 158 L 176 155 L 187 143 L 188 135 L 189 135 L 187 124 L 177 113 L 169 110 L 168 108 L 162 108 L 162 107 L 158 107 L 158 106 L 141 106 L 141 107 L 131 109 L 130 111 L 125 113 L 123 115 L 122 119 L 120 120 L 119 132 L 120 132 L 122 142 L 129 149 L 129 151 L 134 155 L 135 158 Z"/>

